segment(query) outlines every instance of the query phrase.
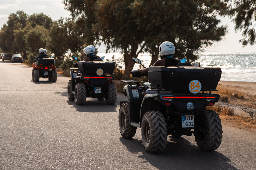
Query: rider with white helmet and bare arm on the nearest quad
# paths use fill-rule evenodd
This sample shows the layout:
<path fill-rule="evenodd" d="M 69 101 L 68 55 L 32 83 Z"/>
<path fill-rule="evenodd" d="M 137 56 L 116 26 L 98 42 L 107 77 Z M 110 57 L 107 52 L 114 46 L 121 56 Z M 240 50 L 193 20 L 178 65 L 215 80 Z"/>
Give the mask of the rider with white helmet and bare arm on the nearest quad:
<path fill-rule="evenodd" d="M 153 65 L 151 66 L 162 66 L 162 67 L 171 67 L 171 66 L 175 66 L 178 63 L 180 63 L 181 61 L 179 59 L 176 58 L 172 58 L 174 52 L 175 52 L 175 47 L 173 45 L 173 43 L 166 41 L 161 43 L 161 45 L 158 48 L 159 50 L 159 54 L 161 59 L 157 60 Z M 138 71 L 142 72 L 142 73 L 148 73 L 148 69 L 144 68 L 144 69 L 138 69 Z M 149 91 L 148 89 L 146 90 L 146 94 L 153 94 L 153 93 L 157 93 L 156 91 Z M 166 93 L 166 92 L 160 92 L 160 93 Z M 167 92 L 169 93 L 169 92 Z"/>

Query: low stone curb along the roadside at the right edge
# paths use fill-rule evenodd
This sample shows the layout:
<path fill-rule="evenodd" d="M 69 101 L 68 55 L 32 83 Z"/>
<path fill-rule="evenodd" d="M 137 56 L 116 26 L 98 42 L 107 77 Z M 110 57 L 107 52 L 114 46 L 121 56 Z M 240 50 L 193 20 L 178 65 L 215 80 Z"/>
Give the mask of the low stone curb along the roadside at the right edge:
<path fill-rule="evenodd" d="M 217 106 L 220 106 L 222 109 L 229 108 L 230 111 L 235 115 L 235 116 L 240 116 L 243 118 L 252 118 L 256 120 L 256 109 L 251 109 L 251 108 L 245 108 L 241 106 L 236 106 L 236 105 L 231 105 L 223 102 L 218 102 L 216 103 Z"/>

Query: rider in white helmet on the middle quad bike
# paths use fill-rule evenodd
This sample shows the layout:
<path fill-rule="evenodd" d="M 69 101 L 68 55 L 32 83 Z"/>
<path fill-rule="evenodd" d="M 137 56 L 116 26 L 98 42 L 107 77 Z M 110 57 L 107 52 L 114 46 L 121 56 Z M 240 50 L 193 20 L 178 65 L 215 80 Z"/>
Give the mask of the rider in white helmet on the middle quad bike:
<path fill-rule="evenodd" d="M 93 45 L 88 45 L 87 47 L 84 47 L 83 53 L 81 54 L 80 61 L 93 61 L 93 60 L 99 60 L 103 61 L 99 56 L 94 55 L 95 53 L 95 47 Z M 86 55 L 84 57 L 84 55 Z"/>

